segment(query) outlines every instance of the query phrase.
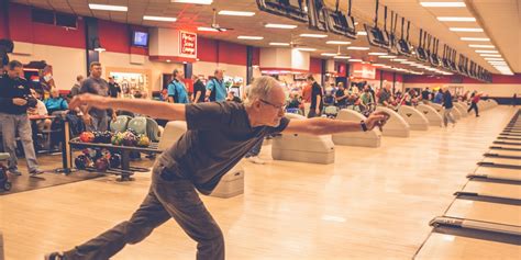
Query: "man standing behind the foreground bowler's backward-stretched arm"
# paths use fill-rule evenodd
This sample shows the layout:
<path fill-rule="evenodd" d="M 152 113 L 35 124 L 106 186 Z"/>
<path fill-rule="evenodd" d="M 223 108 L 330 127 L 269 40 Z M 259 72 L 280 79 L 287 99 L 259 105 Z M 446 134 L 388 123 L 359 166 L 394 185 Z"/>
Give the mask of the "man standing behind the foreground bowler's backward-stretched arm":
<path fill-rule="evenodd" d="M 93 61 L 90 64 L 90 76 L 84 80 L 80 88 L 80 93 L 91 93 L 101 97 L 109 97 L 109 83 L 101 78 L 103 72 L 101 64 Z M 100 110 L 97 108 L 81 108 L 84 115 L 82 120 L 87 131 L 89 132 L 104 132 L 109 129 L 109 116 L 115 121 L 115 112 L 112 109 Z"/>

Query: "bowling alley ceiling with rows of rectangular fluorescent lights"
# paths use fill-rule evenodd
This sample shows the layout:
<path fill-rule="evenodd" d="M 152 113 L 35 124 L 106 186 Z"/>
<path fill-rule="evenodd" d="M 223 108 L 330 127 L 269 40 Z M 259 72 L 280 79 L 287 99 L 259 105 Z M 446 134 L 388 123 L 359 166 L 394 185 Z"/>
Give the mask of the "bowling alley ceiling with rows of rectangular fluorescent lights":
<path fill-rule="evenodd" d="M 296 0 L 291 0 L 295 2 Z M 324 0 L 328 7 L 333 8 L 336 0 Z M 434 1 L 434 0 L 424 0 Z M 436 0 L 450 1 L 450 0 Z M 513 72 L 521 72 L 521 1 L 520 0 L 452 0 L 464 1 L 464 8 L 424 8 L 420 0 L 380 0 L 380 4 L 388 5 L 390 10 L 397 11 L 400 16 L 410 20 L 411 41 L 417 44 L 419 29 L 426 30 L 430 34 L 440 38 L 440 46 L 448 44 L 472 60 L 491 72 L 498 72 L 469 44 L 492 44 L 502 55 Z M 368 46 L 366 36 L 358 36 L 352 41 L 329 33 L 325 39 L 299 37 L 301 33 L 312 33 L 307 24 L 292 20 L 260 12 L 255 0 L 214 0 L 211 5 L 196 5 L 186 3 L 171 3 L 170 0 L 12 0 L 22 4 L 55 10 L 59 12 L 74 13 L 80 16 L 95 16 L 114 22 L 138 24 L 146 26 L 173 27 L 197 31 L 198 26 L 210 26 L 212 23 L 212 9 L 252 11 L 254 16 L 229 16 L 218 15 L 218 23 L 223 27 L 232 27 L 233 31 L 214 33 L 198 32 L 206 37 L 219 38 L 229 42 L 247 44 L 252 46 L 267 47 L 269 42 L 296 42 L 307 47 L 317 48 L 312 56 L 320 57 L 322 53 L 336 53 L 339 46 L 325 44 L 326 41 L 342 39 L 352 42 L 348 46 Z M 376 0 L 352 0 L 353 15 L 358 22 L 357 31 L 364 31 L 363 24 L 373 24 Z M 128 12 L 109 12 L 90 10 L 88 3 L 103 3 L 129 7 Z M 343 11 L 347 8 L 347 0 L 340 0 Z M 153 22 L 144 21 L 143 15 L 174 16 L 177 22 Z M 474 16 L 476 22 L 440 22 L 436 16 Z M 383 21 L 383 8 L 380 8 L 380 21 Z M 284 23 L 298 25 L 293 30 L 266 29 L 266 23 Z M 456 33 L 448 27 L 483 27 L 483 33 Z M 400 26 L 398 26 L 400 31 Z M 264 36 L 262 41 L 237 39 L 239 35 Z M 463 42 L 461 37 L 488 37 L 491 42 Z M 442 48 L 440 48 L 442 50 Z M 381 52 L 375 47 L 370 50 L 347 50 L 341 46 L 343 55 L 353 58 L 364 58 L 366 61 L 387 64 L 398 68 L 408 68 L 406 65 L 392 63 L 389 59 L 379 59 L 377 56 L 367 56 L 368 52 Z"/>

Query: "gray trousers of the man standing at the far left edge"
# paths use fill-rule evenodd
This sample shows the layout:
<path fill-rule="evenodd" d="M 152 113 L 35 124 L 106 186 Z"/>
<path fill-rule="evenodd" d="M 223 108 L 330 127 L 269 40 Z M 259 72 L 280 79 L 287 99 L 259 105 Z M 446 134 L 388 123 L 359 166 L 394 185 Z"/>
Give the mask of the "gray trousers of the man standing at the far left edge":
<path fill-rule="evenodd" d="M 26 114 L 13 115 L 0 113 L 0 126 L 2 127 L 3 149 L 9 154 L 8 168 L 18 169 L 16 158 L 16 131 L 22 140 L 23 152 L 27 160 L 29 171 L 35 171 L 38 168 L 36 154 L 34 152 L 33 132 L 31 121 Z"/>

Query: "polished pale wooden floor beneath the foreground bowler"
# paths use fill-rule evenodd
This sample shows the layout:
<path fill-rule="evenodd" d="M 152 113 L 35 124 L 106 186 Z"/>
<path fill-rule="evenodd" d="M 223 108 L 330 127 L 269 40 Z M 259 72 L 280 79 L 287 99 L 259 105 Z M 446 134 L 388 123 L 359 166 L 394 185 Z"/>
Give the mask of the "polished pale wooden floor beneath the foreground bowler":
<path fill-rule="evenodd" d="M 337 146 L 329 166 L 244 162 L 244 195 L 202 200 L 228 259 L 410 259 L 513 113 L 498 108 L 455 128 L 385 137 L 378 149 Z M 133 213 L 148 184 L 147 174 L 106 177 L 1 196 L 8 259 L 41 259 L 100 234 Z M 195 242 L 168 222 L 113 259 L 195 259 Z"/>

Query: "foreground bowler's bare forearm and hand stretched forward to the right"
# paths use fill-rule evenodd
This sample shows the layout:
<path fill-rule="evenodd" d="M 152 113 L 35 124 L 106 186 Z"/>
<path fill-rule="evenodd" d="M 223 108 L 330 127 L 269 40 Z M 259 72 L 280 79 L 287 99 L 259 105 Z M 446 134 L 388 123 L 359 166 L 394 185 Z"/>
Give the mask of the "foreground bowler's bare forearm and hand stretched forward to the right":
<path fill-rule="evenodd" d="M 367 131 L 376 126 L 383 127 L 390 117 L 385 112 L 375 112 L 366 121 Z M 362 132 L 361 122 L 341 121 L 331 118 L 309 118 L 291 120 L 282 133 L 310 134 L 310 135 L 330 135 L 344 132 Z"/>

